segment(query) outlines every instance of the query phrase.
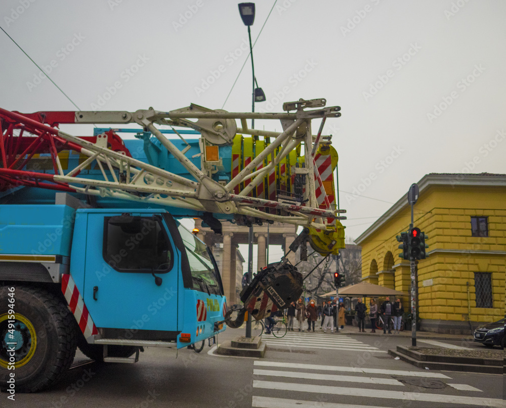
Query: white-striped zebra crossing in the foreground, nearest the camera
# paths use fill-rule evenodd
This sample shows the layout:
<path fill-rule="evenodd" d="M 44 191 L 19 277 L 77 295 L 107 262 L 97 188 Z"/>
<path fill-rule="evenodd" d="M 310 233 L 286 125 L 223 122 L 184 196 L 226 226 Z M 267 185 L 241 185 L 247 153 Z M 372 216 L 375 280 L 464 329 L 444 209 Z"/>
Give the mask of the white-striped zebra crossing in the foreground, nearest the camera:
<path fill-rule="evenodd" d="M 448 374 L 451 375 L 451 374 Z M 410 406 L 490 406 L 502 399 L 481 396 L 482 390 L 455 384 L 448 375 L 426 371 L 354 368 L 255 360 L 251 406 L 257 408 L 382 408 Z M 409 385 L 402 379 L 439 381 L 442 389 Z M 286 396 L 289 395 L 289 398 Z M 483 394 L 482 394 L 483 395 Z M 357 401 L 359 400 L 359 401 Z M 360 402 L 360 403 L 355 403 Z M 364 404 L 365 403 L 365 404 Z"/>

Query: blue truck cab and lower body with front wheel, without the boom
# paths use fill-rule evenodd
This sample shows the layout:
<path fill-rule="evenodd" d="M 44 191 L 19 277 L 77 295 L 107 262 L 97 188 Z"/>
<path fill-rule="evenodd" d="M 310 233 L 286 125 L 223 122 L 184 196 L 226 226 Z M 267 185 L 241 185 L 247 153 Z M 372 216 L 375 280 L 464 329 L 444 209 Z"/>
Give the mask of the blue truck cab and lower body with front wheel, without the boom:
<path fill-rule="evenodd" d="M 3 387 L 11 373 L 18 392 L 58 381 L 76 345 L 134 362 L 141 347 L 186 347 L 224 330 L 214 324 L 225 297 L 213 255 L 171 214 L 55 196 L 0 204 Z"/>

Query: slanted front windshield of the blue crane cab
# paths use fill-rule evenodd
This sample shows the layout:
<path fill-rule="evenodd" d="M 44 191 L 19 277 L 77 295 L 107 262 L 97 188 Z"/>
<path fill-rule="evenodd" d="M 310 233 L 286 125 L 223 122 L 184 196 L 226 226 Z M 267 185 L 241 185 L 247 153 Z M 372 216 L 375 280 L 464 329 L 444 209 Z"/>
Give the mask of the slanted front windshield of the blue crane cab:
<path fill-rule="evenodd" d="M 193 289 L 220 295 L 220 285 L 212 260 L 209 258 L 205 244 L 178 223 L 178 231 L 188 256 L 193 281 Z"/>

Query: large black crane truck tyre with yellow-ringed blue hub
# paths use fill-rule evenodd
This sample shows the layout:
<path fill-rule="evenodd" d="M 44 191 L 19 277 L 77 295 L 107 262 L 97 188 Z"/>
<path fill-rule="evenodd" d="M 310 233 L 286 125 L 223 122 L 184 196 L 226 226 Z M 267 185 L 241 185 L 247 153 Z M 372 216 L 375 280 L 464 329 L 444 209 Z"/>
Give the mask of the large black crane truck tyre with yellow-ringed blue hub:
<path fill-rule="evenodd" d="M 0 287 L 0 299 L 0 389 L 35 392 L 58 382 L 76 348 L 67 304 L 45 290 L 17 285 Z"/>

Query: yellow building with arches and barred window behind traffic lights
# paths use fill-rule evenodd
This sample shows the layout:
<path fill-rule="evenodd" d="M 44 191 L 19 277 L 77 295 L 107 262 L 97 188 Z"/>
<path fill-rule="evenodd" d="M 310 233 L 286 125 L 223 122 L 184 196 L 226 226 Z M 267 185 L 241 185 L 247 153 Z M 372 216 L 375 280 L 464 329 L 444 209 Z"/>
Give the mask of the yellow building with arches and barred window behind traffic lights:
<path fill-rule="evenodd" d="M 414 226 L 428 235 L 417 269 L 420 330 L 469 333 L 504 317 L 506 174 L 427 174 L 418 183 Z M 396 236 L 408 231 L 407 194 L 355 242 L 362 280 L 410 293 L 409 261 Z M 410 310 L 409 297 L 402 299 Z"/>

